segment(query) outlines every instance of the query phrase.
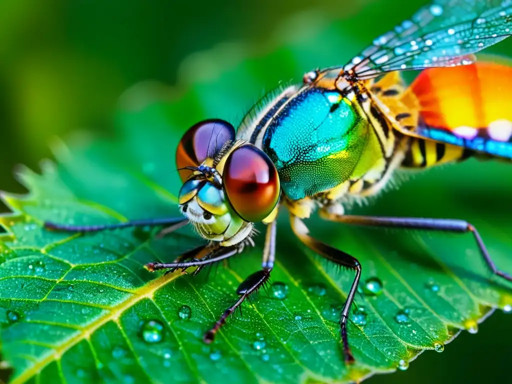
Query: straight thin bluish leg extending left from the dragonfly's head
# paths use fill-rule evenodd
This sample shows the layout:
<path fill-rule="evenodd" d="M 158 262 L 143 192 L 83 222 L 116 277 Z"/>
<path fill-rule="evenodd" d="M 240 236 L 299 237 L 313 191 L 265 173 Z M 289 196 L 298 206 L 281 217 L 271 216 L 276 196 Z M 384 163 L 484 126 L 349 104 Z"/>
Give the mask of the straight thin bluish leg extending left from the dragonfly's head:
<path fill-rule="evenodd" d="M 187 224 L 188 220 L 183 217 L 172 217 L 172 218 L 163 218 L 163 219 L 143 219 L 143 220 L 132 220 L 126 221 L 124 223 L 115 223 L 115 224 L 100 224 L 100 225 L 68 225 L 68 224 L 58 224 L 50 221 L 45 222 L 44 226 L 46 229 L 55 230 L 55 231 L 66 231 L 66 232 L 98 232 L 105 229 L 118 229 L 118 228 L 128 228 L 128 227 L 157 227 L 157 226 L 165 226 L 170 225 L 173 226 L 173 229 L 176 230 L 181 226 Z"/>

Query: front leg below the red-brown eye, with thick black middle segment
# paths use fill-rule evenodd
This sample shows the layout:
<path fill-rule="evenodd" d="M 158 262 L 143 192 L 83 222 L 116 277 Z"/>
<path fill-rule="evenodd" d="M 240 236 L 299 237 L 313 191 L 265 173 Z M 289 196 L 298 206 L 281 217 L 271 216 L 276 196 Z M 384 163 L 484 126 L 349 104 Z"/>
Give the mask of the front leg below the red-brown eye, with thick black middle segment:
<path fill-rule="evenodd" d="M 251 294 L 258 292 L 263 285 L 268 281 L 270 277 L 270 271 L 272 271 L 275 258 L 275 233 L 276 233 L 276 222 L 275 220 L 267 225 L 267 232 L 265 236 L 265 247 L 263 249 L 263 262 L 262 269 L 252 273 L 245 279 L 237 288 L 237 294 L 240 296 L 239 299 L 226 309 L 218 321 L 214 324 L 209 331 L 207 331 L 203 340 L 209 344 L 214 341 L 215 335 L 221 327 L 226 324 L 227 318 L 240 307 L 240 305 L 248 298 Z"/>

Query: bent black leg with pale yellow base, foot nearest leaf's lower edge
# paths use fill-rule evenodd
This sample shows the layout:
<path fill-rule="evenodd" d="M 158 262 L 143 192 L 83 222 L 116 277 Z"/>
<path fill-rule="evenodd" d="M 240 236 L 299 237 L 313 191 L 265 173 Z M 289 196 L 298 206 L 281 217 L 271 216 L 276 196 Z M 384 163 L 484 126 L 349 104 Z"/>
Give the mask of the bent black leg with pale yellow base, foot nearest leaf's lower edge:
<path fill-rule="evenodd" d="M 318 253 L 322 257 L 326 258 L 333 263 L 341 265 L 343 267 L 352 269 L 355 271 L 355 278 L 350 287 L 349 294 L 347 295 L 347 300 L 342 309 L 342 314 L 339 319 L 340 325 L 340 333 L 342 336 L 343 343 L 343 354 L 345 357 L 345 362 L 347 364 L 352 364 L 354 362 L 354 357 L 352 356 L 352 352 L 350 351 L 348 334 L 347 334 L 347 321 L 349 317 L 350 307 L 354 302 L 354 296 L 357 291 L 357 285 L 359 284 L 359 280 L 361 278 L 361 264 L 357 259 L 352 257 L 350 254 L 340 251 L 339 249 L 333 248 L 327 244 L 324 244 L 316 239 L 313 239 L 309 236 L 309 229 L 306 227 L 304 222 L 293 215 L 290 215 L 290 223 L 295 236 L 299 240 L 302 241 L 304 245 L 309 247 L 314 252 Z"/>

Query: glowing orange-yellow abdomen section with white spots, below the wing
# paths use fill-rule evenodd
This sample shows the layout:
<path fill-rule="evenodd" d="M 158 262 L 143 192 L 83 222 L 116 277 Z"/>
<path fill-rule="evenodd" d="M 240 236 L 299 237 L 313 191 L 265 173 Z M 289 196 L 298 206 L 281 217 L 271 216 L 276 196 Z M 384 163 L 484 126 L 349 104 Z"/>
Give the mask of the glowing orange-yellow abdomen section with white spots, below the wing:
<path fill-rule="evenodd" d="M 477 61 L 432 68 L 421 72 L 411 88 L 426 126 L 465 139 L 487 136 L 507 142 L 512 137 L 512 67 Z"/>

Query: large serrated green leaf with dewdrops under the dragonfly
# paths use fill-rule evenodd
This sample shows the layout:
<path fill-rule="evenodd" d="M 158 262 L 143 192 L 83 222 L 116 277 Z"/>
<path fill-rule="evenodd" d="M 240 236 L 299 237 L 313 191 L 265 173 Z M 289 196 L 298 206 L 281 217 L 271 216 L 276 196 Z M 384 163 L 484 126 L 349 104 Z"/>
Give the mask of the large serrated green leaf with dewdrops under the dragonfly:
<path fill-rule="evenodd" d="M 512 305 L 512 286 L 490 274 L 470 234 L 351 228 L 313 218 L 307 224 L 314 236 L 362 265 L 349 323 L 357 362 L 347 367 L 338 318 L 353 272 L 304 249 L 283 212 L 269 295 L 245 303 L 243 316 L 234 315 L 206 346 L 204 331 L 258 270 L 262 236 L 256 248 L 206 279 L 204 272 L 143 268 L 197 245 L 201 240 L 187 228 L 164 239 L 147 228 L 90 234 L 42 228 L 45 220 L 93 224 L 177 215 L 174 153 L 187 126 L 204 117 L 235 120 L 278 79 L 340 61 L 336 52 L 316 47 L 318 41 L 347 52 L 360 48 L 342 38 L 349 34 L 338 25 L 320 28 L 307 20 L 305 40 L 276 37 L 271 47 L 225 46 L 188 60 L 181 76 L 190 82 L 186 92 L 139 84 L 121 99 L 115 137 L 58 143 L 57 165 L 43 162 L 41 174 L 18 172 L 30 194 L 4 194 L 14 214 L 1 219 L 8 233 L 0 249 L 2 348 L 14 368 L 12 382 L 360 381 L 407 368 L 423 350 L 441 351 L 459 330 L 474 332 L 493 308 Z M 418 174 L 352 211 L 468 220 L 498 267 L 510 272 L 509 175 L 507 164 L 467 161 Z"/>

